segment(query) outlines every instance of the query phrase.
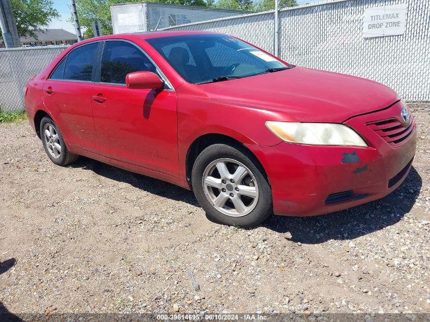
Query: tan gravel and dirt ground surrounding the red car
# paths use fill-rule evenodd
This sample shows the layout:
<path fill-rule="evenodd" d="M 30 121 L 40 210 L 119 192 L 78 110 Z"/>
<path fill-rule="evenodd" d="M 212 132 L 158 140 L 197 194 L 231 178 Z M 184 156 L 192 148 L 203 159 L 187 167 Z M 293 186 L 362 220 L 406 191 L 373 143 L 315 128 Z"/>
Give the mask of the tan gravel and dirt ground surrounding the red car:
<path fill-rule="evenodd" d="M 254 229 L 155 179 L 55 166 L 27 122 L 0 125 L 0 310 L 430 312 L 430 104 L 410 106 L 417 155 L 395 192 Z"/>

